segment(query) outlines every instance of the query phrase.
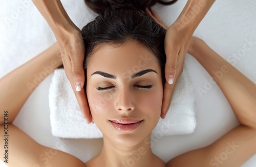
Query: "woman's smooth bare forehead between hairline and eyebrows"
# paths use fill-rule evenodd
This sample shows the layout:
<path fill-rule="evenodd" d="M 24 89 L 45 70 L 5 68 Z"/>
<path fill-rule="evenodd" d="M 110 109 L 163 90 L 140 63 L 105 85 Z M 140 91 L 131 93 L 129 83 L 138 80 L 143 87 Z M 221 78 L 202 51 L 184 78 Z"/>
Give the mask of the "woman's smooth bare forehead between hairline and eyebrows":
<path fill-rule="evenodd" d="M 146 68 L 160 69 L 155 55 L 145 46 L 129 41 L 119 46 L 101 44 L 88 62 L 87 70 L 140 71 Z"/>

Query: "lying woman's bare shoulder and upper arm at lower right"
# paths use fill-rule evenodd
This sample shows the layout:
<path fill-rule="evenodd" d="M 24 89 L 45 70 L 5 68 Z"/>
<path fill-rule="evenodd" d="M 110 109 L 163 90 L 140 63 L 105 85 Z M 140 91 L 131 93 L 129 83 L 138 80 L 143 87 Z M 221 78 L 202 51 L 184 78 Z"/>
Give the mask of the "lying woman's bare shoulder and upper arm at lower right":
<path fill-rule="evenodd" d="M 168 167 L 241 166 L 256 154 L 256 129 L 238 126 L 211 145 L 181 154 Z"/>

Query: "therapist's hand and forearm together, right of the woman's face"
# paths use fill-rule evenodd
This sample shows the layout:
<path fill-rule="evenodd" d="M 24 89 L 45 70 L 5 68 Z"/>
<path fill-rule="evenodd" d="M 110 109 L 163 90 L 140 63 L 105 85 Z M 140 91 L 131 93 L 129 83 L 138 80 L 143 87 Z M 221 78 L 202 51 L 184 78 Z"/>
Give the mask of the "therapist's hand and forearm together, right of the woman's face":
<path fill-rule="evenodd" d="M 176 82 L 182 73 L 190 39 L 214 2 L 215 0 L 188 0 L 180 16 L 167 29 L 164 40 L 166 82 L 163 93 L 162 118 L 167 114 Z M 160 20 L 159 17 L 158 20 Z M 162 21 L 159 21 L 159 24 L 161 25 Z"/>

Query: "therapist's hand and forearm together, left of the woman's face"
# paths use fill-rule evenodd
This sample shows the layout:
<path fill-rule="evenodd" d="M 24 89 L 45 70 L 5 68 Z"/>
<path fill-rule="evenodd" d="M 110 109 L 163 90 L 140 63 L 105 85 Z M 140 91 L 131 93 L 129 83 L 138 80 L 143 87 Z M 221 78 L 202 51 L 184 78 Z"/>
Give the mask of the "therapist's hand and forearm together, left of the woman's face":
<path fill-rule="evenodd" d="M 60 48 L 63 66 L 71 83 L 83 117 L 92 122 L 86 93 L 83 71 L 84 42 L 81 31 L 72 22 L 60 0 L 32 0 L 38 11 L 50 25 Z"/>

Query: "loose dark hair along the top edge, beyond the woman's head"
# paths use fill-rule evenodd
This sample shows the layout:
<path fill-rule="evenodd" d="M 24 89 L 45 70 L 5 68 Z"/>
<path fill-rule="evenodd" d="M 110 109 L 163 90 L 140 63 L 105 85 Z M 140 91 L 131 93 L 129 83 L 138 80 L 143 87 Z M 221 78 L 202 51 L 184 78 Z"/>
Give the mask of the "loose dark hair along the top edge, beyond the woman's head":
<path fill-rule="evenodd" d="M 156 3 L 160 3 L 163 5 L 172 5 L 176 3 L 178 0 L 173 0 L 169 2 L 164 2 L 160 0 L 84 0 L 86 5 L 91 8 L 94 12 L 100 14 L 104 13 L 104 11 L 108 8 L 117 6 L 117 5 L 125 5 L 125 4 L 132 4 L 138 10 L 145 11 L 145 8 L 150 8 Z"/>

